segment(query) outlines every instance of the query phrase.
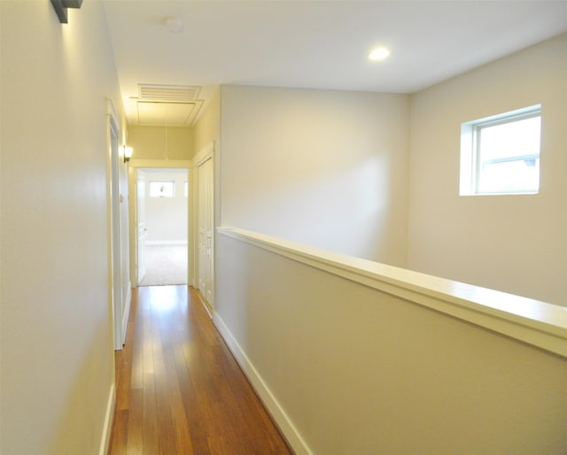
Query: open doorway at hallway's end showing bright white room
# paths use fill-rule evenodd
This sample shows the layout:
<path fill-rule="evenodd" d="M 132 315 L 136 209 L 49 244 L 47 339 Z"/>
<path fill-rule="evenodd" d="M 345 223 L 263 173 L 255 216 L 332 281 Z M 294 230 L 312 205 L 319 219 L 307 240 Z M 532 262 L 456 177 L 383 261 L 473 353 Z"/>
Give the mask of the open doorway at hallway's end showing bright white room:
<path fill-rule="evenodd" d="M 187 168 L 138 168 L 137 284 L 188 284 Z"/>

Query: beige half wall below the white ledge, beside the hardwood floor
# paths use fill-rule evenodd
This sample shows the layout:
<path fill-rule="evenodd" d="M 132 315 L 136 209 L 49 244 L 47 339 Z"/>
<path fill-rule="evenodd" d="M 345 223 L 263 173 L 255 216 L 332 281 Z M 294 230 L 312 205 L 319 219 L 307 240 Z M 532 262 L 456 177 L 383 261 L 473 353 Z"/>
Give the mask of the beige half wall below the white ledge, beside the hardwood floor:
<path fill-rule="evenodd" d="M 318 455 L 567 447 L 567 359 L 225 235 L 217 248 L 215 320 L 296 453 L 301 438 Z"/>

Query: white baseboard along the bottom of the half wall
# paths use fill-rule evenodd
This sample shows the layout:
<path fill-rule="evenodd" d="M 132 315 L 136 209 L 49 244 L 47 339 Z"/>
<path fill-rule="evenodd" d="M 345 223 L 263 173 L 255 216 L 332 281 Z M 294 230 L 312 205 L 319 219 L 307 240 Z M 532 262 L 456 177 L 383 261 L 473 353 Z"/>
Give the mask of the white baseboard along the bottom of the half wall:
<path fill-rule="evenodd" d="M 268 409 L 268 413 L 270 413 L 286 441 L 290 444 L 291 449 L 293 449 L 296 455 L 313 455 L 313 452 L 299 434 L 298 429 L 295 428 L 289 416 L 283 411 L 282 406 L 277 402 L 276 397 L 274 397 L 268 388 L 268 384 L 261 378 L 250 359 L 248 359 L 248 356 L 246 356 L 245 351 L 243 351 L 235 337 L 230 333 L 229 328 L 224 323 L 221 316 L 219 316 L 219 313 L 214 312 L 213 321 L 214 325 L 221 333 L 222 338 L 229 346 L 232 355 L 234 355 L 238 364 L 245 372 L 248 381 L 252 384 L 252 388 L 256 390 L 260 400 Z"/>

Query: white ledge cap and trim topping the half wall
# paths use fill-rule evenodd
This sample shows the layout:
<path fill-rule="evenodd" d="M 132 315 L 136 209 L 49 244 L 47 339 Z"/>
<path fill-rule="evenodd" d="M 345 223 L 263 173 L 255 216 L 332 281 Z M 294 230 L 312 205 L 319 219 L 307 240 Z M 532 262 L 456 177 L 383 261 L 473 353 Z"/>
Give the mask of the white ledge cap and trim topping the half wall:
<path fill-rule="evenodd" d="M 238 228 L 218 233 L 567 357 L 567 307 L 322 251 Z"/>

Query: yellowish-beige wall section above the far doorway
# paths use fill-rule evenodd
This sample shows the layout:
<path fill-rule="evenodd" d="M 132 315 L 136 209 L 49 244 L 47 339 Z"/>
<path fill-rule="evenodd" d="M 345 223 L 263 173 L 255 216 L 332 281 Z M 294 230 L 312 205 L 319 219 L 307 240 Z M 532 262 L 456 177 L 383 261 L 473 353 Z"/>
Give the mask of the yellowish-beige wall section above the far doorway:
<path fill-rule="evenodd" d="M 193 131 L 188 127 L 129 127 L 132 159 L 176 160 L 193 156 Z"/>

